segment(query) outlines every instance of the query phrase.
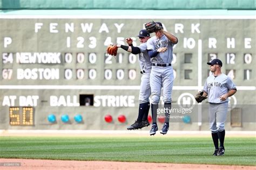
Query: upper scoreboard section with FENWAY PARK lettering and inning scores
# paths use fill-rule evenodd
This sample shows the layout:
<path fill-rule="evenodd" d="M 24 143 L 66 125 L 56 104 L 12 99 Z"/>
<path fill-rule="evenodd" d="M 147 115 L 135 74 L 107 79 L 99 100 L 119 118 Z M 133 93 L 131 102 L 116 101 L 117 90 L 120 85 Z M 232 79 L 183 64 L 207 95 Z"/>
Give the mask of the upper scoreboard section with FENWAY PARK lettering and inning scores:
<path fill-rule="evenodd" d="M 1 22 L 1 28 L 6 28 L 0 42 L 2 85 L 15 84 L 16 81 L 25 85 L 32 85 L 33 81 L 47 85 L 63 85 L 67 83 L 65 80 L 69 80 L 70 85 L 86 85 L 86 81 L 74 80 L 88 79 L 99 80 L 97 85 L 105 82 L 104 80 L 119 81 L 119 85 L 122 84 L 120 80 L 126 80 L 122 85 L 139 84 L 138 56 L 119 49 L 118 55 L 113 58 L 107 55 L 105 49 L 111 43 L 125 44 L 126 37 L 132 37 L 135 46 L 139 44 L 138 37 L 133 36 L 137 35 L 140 29 L 131 30 L 131 23 L 136 20 L 138 27 L 143 27 L 145 19 L 127 19 L 120 23 L 113 19 L 30 19 L 26 22 L 22 22 L 24 19 L 2 20 L 5 22 Z M 179 44 L 174 46 L 172 61 L 176 75 L 178 71 L 175 78 L 180 82 L 178 85 L 197 82 L 197 76 L 192 75 L 198 72 L 196 65 L 200 52 L 200 37 L 203 38 L 200 39 L 203 42 L 203 63 L 214 58 L 223 60 L 225 66 L 240 67 L 239 65 L 244 63 L 244 70 L 238 74 L 237 84 L 242 83 L 242 80 L 253 79 L 254 30 L 233 35 L 226 30 L 225 25 L 238 25 L 236 30 L 242 31 L 245 29 L 244 25 L 251 25 L 247 30 L 254 28 L 255 22 L 251 22 L 253 19 L 215 20 L 218 20 L 219 25 L 211 28 L 211 19 L 201 19 L 200 22 L 193 19 L 161 19 L 164 28 L 179 38 Z M 17 24 L 17 27 L 9 28 L 9 22 Z M 24 29 L 17 31 L 16 28 L 20 24 Z M 29 38 L 18 38 L 21 36 Z M 204 70 L 207 65 L 203 64 L 202 67 Z"/>

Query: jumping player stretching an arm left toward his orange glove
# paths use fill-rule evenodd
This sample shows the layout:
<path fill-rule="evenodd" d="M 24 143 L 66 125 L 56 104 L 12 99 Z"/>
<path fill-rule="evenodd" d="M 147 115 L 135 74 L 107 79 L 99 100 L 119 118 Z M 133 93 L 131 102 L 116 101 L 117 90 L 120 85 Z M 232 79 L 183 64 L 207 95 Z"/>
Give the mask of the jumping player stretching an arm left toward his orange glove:
<path fill-rule="evenodd" d="M 117 44 L 117 47 L 121 47 L 122 49 L 131 52 L 134 55 L 139 54 L 140 73 L 142 74 L 139 91 L 138 118 L 134 124 L 127 127 L 127 130 L 137 130 L 138 128 L 150 125 L 149 121 L 147 120 L 147 116 L 149 115 L 150 110 L 150 72 L 152 64 L 150 61 L 150 57 L 147 53 L 146 43 L 147 40 L 150 38 L 150 34 L 146 30 L 140 30 L 139 35 L 137 37 L 139 37 L 141 43 L 138 47 L 134 47 L 132 45 L 131 38 L 126 38 L 126 43 L 129 44 L 129 46 Z"/>

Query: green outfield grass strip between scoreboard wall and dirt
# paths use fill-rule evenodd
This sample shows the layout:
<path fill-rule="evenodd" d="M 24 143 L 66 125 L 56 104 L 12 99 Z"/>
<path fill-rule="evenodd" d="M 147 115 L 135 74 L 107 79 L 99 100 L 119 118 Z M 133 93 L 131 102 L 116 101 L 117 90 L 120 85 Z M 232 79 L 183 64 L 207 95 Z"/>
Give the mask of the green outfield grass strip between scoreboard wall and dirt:
<path fill-rule="evenodd" d="M 214 157 L 210 137 L 0 137 L 0 158 L 256 165 L 256 138 L 226 138 Z"/>

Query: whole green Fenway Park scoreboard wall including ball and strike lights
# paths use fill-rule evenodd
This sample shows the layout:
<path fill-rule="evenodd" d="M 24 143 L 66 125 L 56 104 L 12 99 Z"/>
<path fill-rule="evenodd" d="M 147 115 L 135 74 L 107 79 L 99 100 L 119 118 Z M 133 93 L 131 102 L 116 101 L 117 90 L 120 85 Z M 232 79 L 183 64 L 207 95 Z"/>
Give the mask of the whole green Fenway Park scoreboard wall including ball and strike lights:
<path fill-rule="evenodd" d="M 138 55 L 118 49 L 113 57 L 106 46 L 125 45 L 127 37 L 138 46 L 138 32 L 150 20 L 2 16 L 0 129 L 125 130 L 138 113 Z M 214 58 L 238 86 L 230 104 L 255 105 L 255 18 L 157 21 L 179 39 L 173 106 L 195 104 Z M 197 129 L 202 120 L 193 121 Z"/>

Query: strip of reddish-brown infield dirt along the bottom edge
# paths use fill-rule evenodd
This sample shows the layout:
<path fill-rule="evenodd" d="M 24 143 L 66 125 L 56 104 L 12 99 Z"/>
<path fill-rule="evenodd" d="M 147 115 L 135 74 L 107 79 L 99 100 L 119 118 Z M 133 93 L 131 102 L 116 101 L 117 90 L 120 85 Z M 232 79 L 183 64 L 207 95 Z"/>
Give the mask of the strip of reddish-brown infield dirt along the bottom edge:
<path fill-rule="evenodd" d="M 7 163 L 19 163 L 21 166 L 4 166 Z M 197 165 L 197 164 L 163 164 L 145 162 L 112 161 L 64 161 L 41 159 L 0 159 L 1 169 L 244 169 L 255 170 L 254 166 Z M 11 164 L 9 164 L 11 165 Z"/>

